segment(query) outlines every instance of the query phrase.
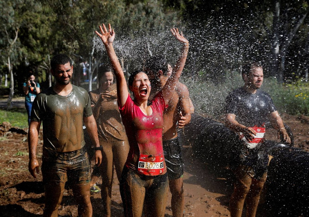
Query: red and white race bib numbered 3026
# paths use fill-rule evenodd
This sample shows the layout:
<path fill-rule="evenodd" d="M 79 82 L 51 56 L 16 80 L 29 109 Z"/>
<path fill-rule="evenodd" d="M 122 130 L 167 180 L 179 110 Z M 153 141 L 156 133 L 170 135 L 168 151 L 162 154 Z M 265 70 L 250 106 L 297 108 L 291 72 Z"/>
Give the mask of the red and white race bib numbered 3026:
<path fill-rule="evenodd" d="M 157 176 L 163 173 L 164 155 L 140 155 L 138 161 L 138 172 L 146 176 Z"/>

